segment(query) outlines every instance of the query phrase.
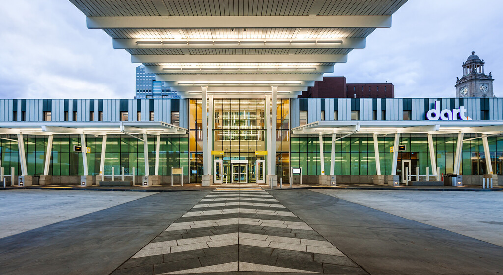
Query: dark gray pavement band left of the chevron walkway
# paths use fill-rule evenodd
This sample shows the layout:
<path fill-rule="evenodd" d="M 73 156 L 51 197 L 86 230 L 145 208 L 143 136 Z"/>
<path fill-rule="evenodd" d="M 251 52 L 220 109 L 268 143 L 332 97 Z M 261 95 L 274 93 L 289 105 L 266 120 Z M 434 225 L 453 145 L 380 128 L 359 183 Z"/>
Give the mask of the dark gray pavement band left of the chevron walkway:
<path fill-rule="evenodd" d="M 108 274 L 208 193 L 155 194 L 2 238 L 1 273 Z"/>

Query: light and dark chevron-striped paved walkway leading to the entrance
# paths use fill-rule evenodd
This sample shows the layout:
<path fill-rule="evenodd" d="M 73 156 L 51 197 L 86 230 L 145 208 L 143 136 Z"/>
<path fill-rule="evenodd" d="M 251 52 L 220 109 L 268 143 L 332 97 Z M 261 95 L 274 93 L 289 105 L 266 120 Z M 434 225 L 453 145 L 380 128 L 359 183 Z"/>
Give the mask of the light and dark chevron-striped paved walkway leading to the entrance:
<path fill-rule="evenodd" d="M 255 184 L 220 185 L 117 274 L 368 274 Z"/>

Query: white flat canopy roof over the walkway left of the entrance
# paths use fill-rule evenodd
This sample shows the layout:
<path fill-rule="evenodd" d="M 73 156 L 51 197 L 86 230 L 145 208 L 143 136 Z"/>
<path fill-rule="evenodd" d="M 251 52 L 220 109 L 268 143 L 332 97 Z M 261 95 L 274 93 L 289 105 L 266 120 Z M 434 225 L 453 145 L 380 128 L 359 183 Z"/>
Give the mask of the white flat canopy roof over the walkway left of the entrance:
<path fill-rule="evenodd" d="M 162 121 L 2 122 L 0 134 L 186 134 L 187 129 Z"/>

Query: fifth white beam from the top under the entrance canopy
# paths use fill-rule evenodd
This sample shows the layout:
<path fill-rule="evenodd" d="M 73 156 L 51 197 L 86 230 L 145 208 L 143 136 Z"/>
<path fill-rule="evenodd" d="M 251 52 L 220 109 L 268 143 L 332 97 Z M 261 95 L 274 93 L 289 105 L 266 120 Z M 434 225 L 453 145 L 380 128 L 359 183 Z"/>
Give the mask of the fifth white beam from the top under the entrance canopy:
<path fill-rule="evenodd" d="M 225 71 L 224 71 L 225 72 Z M 156 74 L 155 80 L 169 81 L 168 84 L 179 85 L 182 81 L 314 81 L 323 80 L 322 73 L 299 73 L 299 74 L 283 74 L 283 73 L 264 73 L 264 74 L 230 74 L 222 72 L 218 74 Z M 209 82 L 208 84 L 211 84 Z M 221 83 L 220 83 L 221 84 Z M 232 83 L 229 83 L 232 84 Z"/>

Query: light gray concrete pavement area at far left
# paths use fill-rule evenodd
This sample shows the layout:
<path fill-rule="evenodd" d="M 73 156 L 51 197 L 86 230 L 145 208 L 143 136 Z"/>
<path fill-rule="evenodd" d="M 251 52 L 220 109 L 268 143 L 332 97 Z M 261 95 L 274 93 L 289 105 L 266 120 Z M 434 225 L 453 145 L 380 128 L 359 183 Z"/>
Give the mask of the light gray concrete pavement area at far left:
<path fill-rule="evenodd" d="M 86 215 L 157 194 L 71 190 L 0 192 L 0 238 Z"/>

